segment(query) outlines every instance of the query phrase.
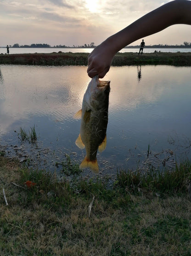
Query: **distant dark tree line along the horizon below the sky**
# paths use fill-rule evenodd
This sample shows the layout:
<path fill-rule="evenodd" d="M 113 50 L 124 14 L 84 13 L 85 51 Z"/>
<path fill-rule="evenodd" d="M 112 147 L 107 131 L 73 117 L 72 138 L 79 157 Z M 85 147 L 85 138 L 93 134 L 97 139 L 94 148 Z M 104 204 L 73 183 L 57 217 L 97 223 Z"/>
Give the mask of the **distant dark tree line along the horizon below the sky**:
<path fill-rule="evenodd" d="M 54 45 L 51 46 L 50 44 L 46 43 L 32 43 L 30 45 L 19 45 L 18 43 L 13 44 L 13 46 L 9 46 L 10 48 L 95 48 L 94 42 L 91 42 L 90 44 L 84 44 L 84 45 L 73 45 L 73 46 L 66 46 L 66 45 Z M 140 45 L 130 45 L 126 46 L 125 48 L 139 48 Z M 191 42 L 184 42 L 180 45 L 168 45 L 168 44 L 154 44 L 154 45 L 146 45 L 145 48 L 190 48 Z"/>

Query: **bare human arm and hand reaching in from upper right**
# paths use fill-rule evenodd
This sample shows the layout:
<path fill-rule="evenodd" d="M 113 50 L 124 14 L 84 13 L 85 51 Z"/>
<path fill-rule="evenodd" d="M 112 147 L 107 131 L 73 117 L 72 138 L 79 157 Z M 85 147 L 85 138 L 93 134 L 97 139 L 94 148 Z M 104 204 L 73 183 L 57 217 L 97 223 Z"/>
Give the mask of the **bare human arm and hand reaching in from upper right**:
<path fill-rule="evenodd" d="M 108 37 L 88 56 L 88 75 L 100 78 L 109 71 L 114 55 L 136 40 L 155 34 L 174 24 L 191 25 L 191 1 L 171 1 L 136 20 L 128 27 Z"/>

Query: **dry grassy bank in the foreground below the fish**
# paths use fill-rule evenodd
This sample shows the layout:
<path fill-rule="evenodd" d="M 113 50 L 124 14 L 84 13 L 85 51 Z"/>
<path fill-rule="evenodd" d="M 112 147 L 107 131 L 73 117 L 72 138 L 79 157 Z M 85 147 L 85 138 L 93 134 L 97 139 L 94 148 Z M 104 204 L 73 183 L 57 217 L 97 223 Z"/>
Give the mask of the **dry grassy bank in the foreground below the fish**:
<path fill-rule="evenodd" d="M 173 172 L 121 171 L 112 186 L 79 174 L 69 183 L 0 156 L 0 255 L 190 255 L 190 179 L 184 161 Z"/>

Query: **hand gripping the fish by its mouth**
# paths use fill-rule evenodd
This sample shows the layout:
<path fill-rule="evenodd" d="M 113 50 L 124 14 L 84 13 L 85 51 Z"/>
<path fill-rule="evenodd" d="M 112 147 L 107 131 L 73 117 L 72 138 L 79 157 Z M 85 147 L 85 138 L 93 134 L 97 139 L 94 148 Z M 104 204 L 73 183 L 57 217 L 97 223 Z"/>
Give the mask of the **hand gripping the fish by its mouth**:
<path fill-rule="evenodd" d="M 113 56 L 105 42 L 98 45 L 88 55 L 88 76 L 92 78 L 99 75 L 99 78 L 103 78 L 110 69 Z"/>

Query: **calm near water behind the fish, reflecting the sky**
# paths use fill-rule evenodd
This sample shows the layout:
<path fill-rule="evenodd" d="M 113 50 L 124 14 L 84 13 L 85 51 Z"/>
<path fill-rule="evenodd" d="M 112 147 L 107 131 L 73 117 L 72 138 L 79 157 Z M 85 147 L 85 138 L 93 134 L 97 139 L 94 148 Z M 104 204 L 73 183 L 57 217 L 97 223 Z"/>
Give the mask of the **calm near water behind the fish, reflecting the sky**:
<path fill-rule="evenodd" d="M 80 163 L 85 150 L 75 145 L 80 120 L 73 114 L 90 82 L 86 69 L 0 65 L 0 149 L 51 171 L 66 154 Z M 112 66 L 104 80 L 111 81 L 111 92 L 107 148 L 97 155 L 101 174 L 173 167 L 191 157 L 191 67 Z M 37 145 L 21 142 L 20 127 L 34 125 Z"/>

